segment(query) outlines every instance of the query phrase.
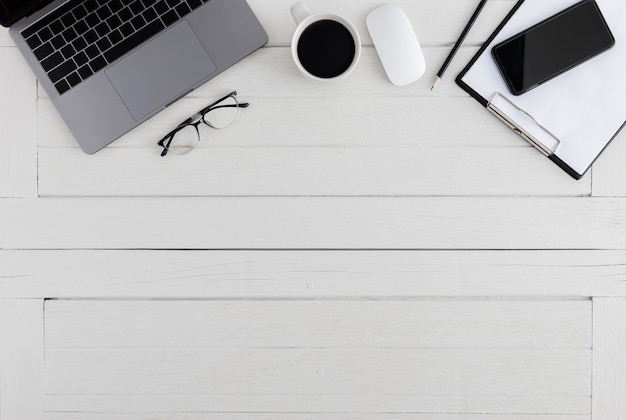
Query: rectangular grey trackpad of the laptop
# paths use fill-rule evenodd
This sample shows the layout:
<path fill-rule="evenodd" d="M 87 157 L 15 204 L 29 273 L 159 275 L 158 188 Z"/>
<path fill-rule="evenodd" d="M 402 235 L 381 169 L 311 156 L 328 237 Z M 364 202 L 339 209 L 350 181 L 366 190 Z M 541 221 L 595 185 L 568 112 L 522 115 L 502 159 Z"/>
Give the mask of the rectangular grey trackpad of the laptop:
<path fill-rule="evenodd" d="M 136 120 L 177 99 L 217 67 L 185 21 L 105 71 Z"/>

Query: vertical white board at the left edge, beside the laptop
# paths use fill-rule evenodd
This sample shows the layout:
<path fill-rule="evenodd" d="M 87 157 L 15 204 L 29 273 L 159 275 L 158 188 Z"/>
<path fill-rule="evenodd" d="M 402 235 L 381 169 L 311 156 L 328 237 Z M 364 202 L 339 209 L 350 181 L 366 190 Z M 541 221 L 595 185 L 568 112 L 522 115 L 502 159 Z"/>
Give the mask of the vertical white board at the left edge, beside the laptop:
<path fill-rule="evenodd" d="M 0 47 L 0 197 L 37 196 L 37 82 L 14 47 Z"/>

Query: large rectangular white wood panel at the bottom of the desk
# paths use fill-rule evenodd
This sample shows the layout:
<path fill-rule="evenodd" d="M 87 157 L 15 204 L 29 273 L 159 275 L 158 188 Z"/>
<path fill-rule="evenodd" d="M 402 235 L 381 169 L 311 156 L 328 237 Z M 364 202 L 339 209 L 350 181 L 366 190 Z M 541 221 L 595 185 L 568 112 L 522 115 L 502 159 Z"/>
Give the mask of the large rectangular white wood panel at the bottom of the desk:
<path fill-rule="evenodd" d="M 590 311 L 589 301 L 50 301 L 46 407 L 589 415 Z M 140 331 L 146 321 L 155 328 Z M 516 338 L 529 322 L 534 333 Z"/>

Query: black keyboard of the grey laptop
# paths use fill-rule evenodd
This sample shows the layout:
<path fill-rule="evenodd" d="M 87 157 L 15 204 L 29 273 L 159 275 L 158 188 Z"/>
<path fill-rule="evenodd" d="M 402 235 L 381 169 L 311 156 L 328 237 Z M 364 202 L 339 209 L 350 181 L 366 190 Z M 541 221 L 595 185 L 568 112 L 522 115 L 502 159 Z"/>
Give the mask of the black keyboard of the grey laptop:
<path fill-rule="evenodd" d="M 208 1 L 70 1 L 22 36 L 62 94 Z"/>

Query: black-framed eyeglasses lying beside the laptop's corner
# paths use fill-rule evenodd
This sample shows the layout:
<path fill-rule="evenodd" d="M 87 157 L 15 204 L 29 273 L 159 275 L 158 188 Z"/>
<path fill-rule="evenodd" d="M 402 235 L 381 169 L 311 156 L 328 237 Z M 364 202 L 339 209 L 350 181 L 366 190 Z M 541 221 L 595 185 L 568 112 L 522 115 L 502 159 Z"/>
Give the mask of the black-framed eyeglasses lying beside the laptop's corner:
<path fill-rule="evenodd" d="M 200 142 L 200 130 L 198 127 L 201 123 L 216 130 L 226 128 L 237 120 L 239 108 L 247 108 L 249 105 L 249 103 L 245 102 L 239 103 L 237 101 L 237 92 L 232 91 L 206 108 L 196 112 L 159 140 L 158 145 L 163 148 L 161 156 L 167 155 L 168 152 L 179 155 L 189 153 Z"/>

